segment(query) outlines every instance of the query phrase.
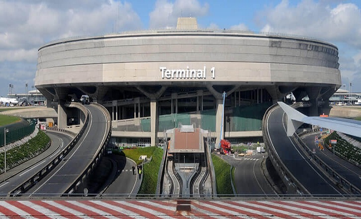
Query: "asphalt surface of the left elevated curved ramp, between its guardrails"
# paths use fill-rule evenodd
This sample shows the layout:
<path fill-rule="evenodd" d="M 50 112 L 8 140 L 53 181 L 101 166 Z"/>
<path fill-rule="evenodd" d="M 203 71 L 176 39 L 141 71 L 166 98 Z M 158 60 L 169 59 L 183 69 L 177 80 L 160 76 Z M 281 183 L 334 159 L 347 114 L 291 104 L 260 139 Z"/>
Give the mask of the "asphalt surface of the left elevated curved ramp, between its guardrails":
<path fill-rule="evenodd" d="M 89 124 L 74 148 L 38 184 L 27 191 L 35 194 L 62 194 L 78 178 L 88 163 L 94 159 L 107 136 L 106 115 L 94 105 L 85 105 L 89 112 Z"/>

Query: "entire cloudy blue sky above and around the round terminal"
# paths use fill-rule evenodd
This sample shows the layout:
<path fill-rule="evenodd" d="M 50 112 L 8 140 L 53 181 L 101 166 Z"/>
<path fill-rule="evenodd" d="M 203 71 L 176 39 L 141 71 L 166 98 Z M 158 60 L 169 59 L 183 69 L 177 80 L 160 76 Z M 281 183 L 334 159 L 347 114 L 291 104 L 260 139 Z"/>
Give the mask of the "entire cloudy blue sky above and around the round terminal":
<path fill-rule="evenodd" d="M 257 2 L 257 3 L 249 3 Z M 342 83 L 361 92 L 361 0 L 0 0 L 0 96 L 34 84 L 37 50 L 61 38 L 175 26 L 295 34 L 338 46 Z"/>

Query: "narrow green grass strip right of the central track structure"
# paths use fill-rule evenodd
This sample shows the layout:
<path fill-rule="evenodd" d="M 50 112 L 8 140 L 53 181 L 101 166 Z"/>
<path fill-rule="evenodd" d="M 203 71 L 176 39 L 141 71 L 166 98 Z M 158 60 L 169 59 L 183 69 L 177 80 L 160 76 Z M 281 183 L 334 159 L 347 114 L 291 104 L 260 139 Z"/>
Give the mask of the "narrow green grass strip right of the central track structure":
<path fill-rule="evenodd" d="M 211 154 L 216 175 L 217 194 L 233 194 L 231 184 L 231 166 L 215 154 Z M 232 171 L 234 175 L 234 170 Z M 234 176 L 232 176 L 234 178 Z"/>

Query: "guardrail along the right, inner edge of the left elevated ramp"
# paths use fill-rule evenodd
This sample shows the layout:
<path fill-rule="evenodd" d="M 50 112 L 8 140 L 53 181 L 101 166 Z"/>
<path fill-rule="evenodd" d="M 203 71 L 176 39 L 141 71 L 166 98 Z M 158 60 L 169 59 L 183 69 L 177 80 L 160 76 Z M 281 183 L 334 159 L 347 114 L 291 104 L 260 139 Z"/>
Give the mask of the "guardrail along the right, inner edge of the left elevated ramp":
<path fill-rule="evenodd" d="M 72 194 L 75 191 L 77 191 L 78 187 L 82 185 L 82 183 L 84 181 L 87 180 L 87 178 L 90 176 L 92 170 L 94 168 L 96 168 L 97 164 L 100 162 L 102 156 L 105 153 L 105 148 L 108 145 L 108 142 L 110 140 L 111 137 L 111 118 L 110 118 L 110 114 L 108 112 L 107 109 L 105 109 L 105 107 L 103 107 L 102 105 L 98 104 L 98 103 L 90 103 L 91 105 L 94 105 L 98 108 L 100 108 L 100 110 L 104 113 L 104 115 L 106 116 L 106 122 L 107 122 L 107 136 L 104 139 L 104 141 L 100 144 L 100 146 L 98 147 L 98 150 L 96 151 L 96 156 L 94 157 L 94 159 L 92 159 L 88 165 L 85 167 L 85 169 L 82 171 L 82 174 L 80 174 L 78 176 L 77 179 L 75 179 L 73 181 L 73 183 L 63 192 L 64 195 L 66 194 Z"/>

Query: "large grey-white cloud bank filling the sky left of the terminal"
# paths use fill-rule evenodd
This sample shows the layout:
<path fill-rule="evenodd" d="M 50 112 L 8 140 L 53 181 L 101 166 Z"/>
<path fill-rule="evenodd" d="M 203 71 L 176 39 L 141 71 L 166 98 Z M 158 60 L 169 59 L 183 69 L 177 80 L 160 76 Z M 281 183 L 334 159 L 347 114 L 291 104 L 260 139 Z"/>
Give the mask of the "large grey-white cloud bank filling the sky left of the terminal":
<path fill-rule="evenodd" d="M 51 40 L 141 28 L 128 2 L 0 0 L 0 93 L 7 93 L 3 83 L 33 81 L 37 50 Z"/>

